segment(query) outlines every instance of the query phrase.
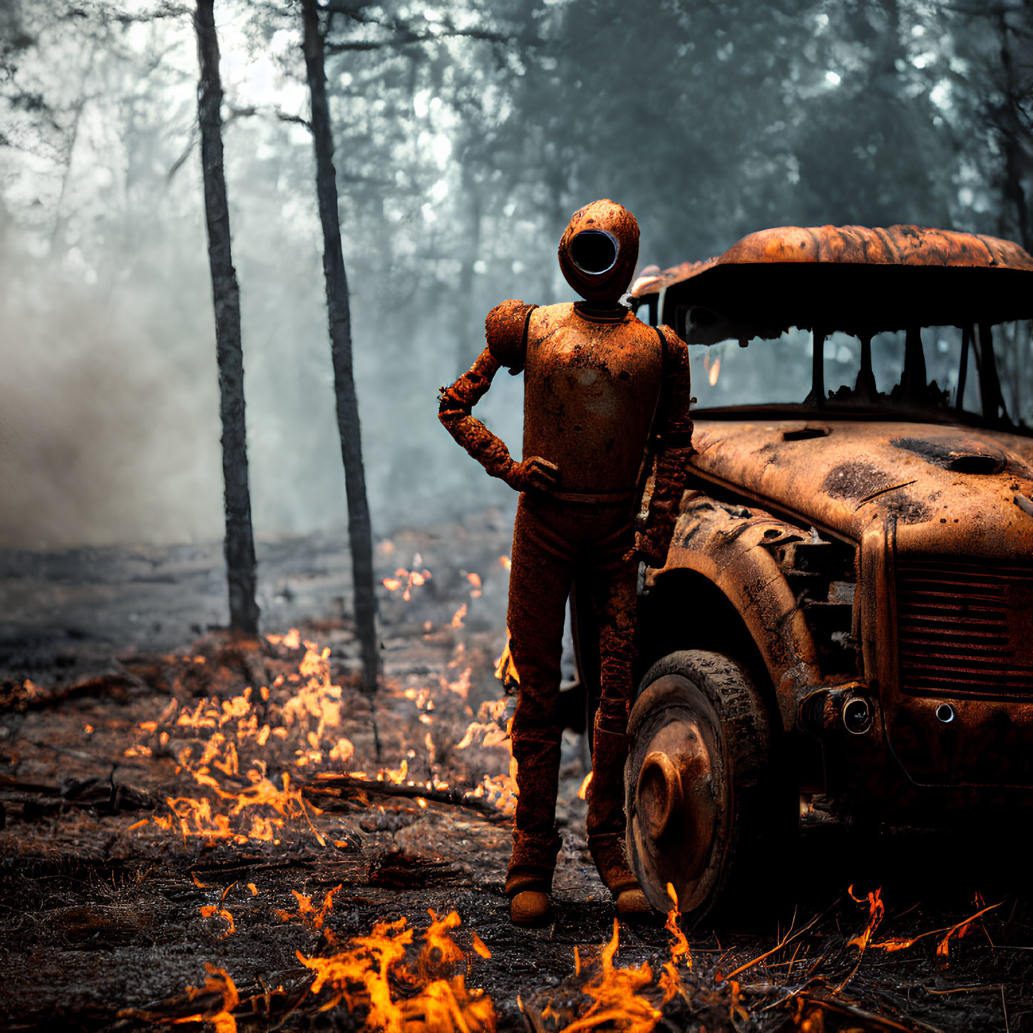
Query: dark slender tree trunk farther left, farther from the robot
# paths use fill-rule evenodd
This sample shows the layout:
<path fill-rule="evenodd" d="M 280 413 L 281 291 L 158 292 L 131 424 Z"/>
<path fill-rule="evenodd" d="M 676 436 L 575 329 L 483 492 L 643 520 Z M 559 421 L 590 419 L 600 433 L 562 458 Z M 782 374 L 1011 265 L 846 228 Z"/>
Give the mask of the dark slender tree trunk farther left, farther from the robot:
<path fill-rule="evenodd" d="M 244 352 L 241 348 L 241 294 L 229 244 L 229 209 L 222 167 L 222 83 L 219 39 L 213 0 L 197 0 L 194 29 L 200 80 L 197 124 L 205 181 L 208 260 L 215 301 L 215 351 L 219 366 L 219 413 L 222 417 L 222 476 L 226 506 L 226 580 L 229 583 L 229 627 L 258 633 L 255 602 L 255 545 L 248 490 L 248 448 L 244 426 Z"/>

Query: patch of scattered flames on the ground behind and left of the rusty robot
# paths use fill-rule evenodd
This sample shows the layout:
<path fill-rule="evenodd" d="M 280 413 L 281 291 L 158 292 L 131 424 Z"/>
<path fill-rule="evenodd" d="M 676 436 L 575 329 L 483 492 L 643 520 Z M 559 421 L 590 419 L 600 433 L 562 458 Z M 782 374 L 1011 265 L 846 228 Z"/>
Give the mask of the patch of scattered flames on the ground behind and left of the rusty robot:
<path fill-rule="evenodd" d="M 417 555 L 414 569 L 399 568 L 395 577 L 384 580 L 385 588 L 399 592 L 404 600 L 411 599 L 412 590 L 431 577 L 426 567 L 415 569 L 420 564 Z M 480 576 L 464 572 L 464 578 L 470 599 L 479 598 L 483 590 Z M 464 603 L 446 628 L 462 628 L 466 613 Z M 134 828 L 153 822 L 159 828 L 175 829 L 184 843 L 198 838 L 207 844 L 220 840 L 238 845 L 258 841 L 273 846 L 280 846 L 284 836 L 299 829 L 325 846 L 326 839 L 313 820 L 322 812 L 305 795 L 306 789 L 321 777 L 336 774 L 356 783 L 372 780 L 404 786 L 413 790 L 408 795 L 419 806 L 426 806 L 426 802 L 418 789 L 431 793 L 449 789 L 449 780 L 433 772 L 424 782 L 411 778 L 411 749 L 397 768 L 383 766 L 373 775 L 352 770 L 355 749 L 341 730 L 346 700 L 342 686 L 331 677 L 331 649 L 303 639 L 295 628 L 284 635 L 267 635 L 264 641 L 263 651 L 272 653 L 270 663 L 282 668 L 268 685 L 247 686 L 229 698 L 204 696 L 196 702 L 182 701 L 174 695 L 155 720 L 140 723 L 136 742 L 125 755 L 174 757 L 176 775 L 185 777 L 192 790 L 168 795 L 165 813 L 156 813 L 149 821 L 134 824 Z M 296 666 L 290 669 L 299 653 L 302 655 Z M 198 655 L 185 658 L 185 662 L 204 669 L 208 660 Z M 418 720 L 426 726 L 422 746 L 432 766 L 437 752 L 434 711 L 436 698 L 438 702 L 442 698 L 437 693 L 443 691 L 465 702 L 472 671 L 461 640 L 437 686 L 410 686 L 402 692 L 415 705 Z M 498 671 L 508 685 L 515 684 L 508 643 L 498 661 Z M 508 749 L 511 713 L 507 703 L 505 696 L 484 702 L 475 715 L 467 708 L 474 720 L 456 749 L 506 748 L 506 770 L 482 774 L 467 791 L 478 804 L 511 814 L 516 785 L 515 761 Z"/>

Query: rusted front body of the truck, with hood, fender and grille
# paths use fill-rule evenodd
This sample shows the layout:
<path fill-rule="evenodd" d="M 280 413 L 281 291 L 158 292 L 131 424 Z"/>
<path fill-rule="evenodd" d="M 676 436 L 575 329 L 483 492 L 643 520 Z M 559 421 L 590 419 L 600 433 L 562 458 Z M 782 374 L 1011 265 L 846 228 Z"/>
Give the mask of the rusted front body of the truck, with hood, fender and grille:
<path fill-rule="evenodd" d="M 696 488 L 651 584 L 688 569 L 721 591 L 784 728 L 827 742 L 836 726 L 847 743 L 827 755 L 829 777 L 865 748 L 866 763 L 882 750 L 912 784 L 1033 785 L 1033 441 L 770 418 L 700 420 L 694 440 Z M 854 569 L 813 577 L 808 550 L 822 542 Z M 852 670 L 829 662 L 836 643 Z M 837 715 L 858 696 L 874 720 L 854 743 Z"/>

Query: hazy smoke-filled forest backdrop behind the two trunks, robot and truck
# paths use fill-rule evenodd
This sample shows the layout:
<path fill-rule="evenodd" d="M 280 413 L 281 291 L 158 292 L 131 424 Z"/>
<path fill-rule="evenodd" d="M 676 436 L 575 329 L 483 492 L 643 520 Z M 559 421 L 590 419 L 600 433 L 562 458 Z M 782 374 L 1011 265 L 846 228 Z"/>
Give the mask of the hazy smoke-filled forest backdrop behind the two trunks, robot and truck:
<path fill-rule="evenodd" d="M 508 498 L 440 432 L 437 387 L 498 301 L 569 298 L 556 245 L 588 200 L 635 213 L 644 265 L 783 224 L 1033 247 L 1031 0 L 323 7 L 381 530 Z M 256 529 L 336 527 L 300 13 L 216 20 Z M 0 543 L 219 534 L 196 81 L 189 5 L 0 0 Z M 519 451 L 504 380 L 481 408 Z"/>

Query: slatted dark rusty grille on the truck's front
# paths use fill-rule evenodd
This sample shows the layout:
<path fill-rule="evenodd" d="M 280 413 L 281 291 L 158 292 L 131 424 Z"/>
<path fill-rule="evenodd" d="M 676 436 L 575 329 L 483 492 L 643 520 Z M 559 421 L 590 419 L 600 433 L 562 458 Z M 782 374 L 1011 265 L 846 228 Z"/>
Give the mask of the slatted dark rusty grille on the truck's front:
<path fill-rule="evenodd" d="M 899 558 L 897 622 L 902 692 L 1033 696 L 1033 565 Z"/>

